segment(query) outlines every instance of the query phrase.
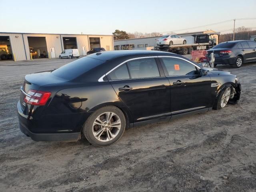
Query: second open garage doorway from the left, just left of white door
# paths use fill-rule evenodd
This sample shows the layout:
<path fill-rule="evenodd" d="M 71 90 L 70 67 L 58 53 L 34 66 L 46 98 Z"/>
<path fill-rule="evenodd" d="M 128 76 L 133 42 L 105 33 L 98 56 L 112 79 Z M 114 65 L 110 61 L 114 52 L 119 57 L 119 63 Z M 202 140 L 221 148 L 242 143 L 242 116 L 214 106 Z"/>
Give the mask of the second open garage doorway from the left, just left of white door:
<path fill-rule="evenodd" d="M 48 58 L 45 37 L 28 37 L 28 46 L 32 58 Z"/>

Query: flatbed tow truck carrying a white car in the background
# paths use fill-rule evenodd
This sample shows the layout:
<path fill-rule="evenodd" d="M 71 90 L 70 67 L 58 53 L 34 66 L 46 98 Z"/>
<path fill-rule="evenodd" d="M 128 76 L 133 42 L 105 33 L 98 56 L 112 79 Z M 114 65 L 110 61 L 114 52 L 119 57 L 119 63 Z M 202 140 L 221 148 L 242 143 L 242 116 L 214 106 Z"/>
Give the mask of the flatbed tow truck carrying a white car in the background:
<path fill-rule="evenodd" d="M 213 40 L 209 39 L 211 35 L 218 35 L 220 32 L 215 33 L 206 33 L 206 34 L 196 34 L 195 43 L 194 44 L 178 44 L 178 45 L 160 45 L 155 46 L 154 50 L 166 51 L 166 52 L 174 52 L 180 55 L 191 54 L 193 50 L 208 50 L 212 48 L 212 46 L 216 45 Z"/>

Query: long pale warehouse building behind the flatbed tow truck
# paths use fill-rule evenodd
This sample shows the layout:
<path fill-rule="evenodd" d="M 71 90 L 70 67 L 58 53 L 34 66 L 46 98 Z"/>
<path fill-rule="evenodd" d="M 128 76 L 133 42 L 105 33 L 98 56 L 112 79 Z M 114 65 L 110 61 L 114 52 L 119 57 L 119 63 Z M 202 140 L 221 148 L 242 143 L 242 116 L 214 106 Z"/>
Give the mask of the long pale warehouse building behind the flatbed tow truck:
<path fill-rule="evenodd" d="M 211 33 L 211 32 L 215 32 L 215 31 L 207 30 L 207 31 L 199 31 L 199 32 L 192 32 L 192 33 L 181 33 L 181 34 L 177 34 L 177 35 L 182 38 L 185 38 L 187 40 L 187 44 L 193 44 L 194 43 L 193 35 L 205 34 L 205 33 Z M 128 50 L 128 49 L 151 50 L 151 49 L 154 49 L 154 47 L 156 46 L 156 41 L 160 37 L 161 36 L 114 40 L 114 50 Z"/>

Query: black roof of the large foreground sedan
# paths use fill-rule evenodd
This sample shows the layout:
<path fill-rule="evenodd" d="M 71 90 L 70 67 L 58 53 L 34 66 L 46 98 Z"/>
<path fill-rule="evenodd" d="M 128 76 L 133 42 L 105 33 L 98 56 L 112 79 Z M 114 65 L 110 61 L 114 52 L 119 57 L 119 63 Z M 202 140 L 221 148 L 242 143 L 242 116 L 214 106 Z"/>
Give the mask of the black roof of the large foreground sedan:
<path fill-rule="evenodd" d="M 140 56 L 177 56 L 177 54 L 173 54 L 170 52 L 163 52 L 163 51 L 152 51 L 152 50 L 116 50 L 116 51 L 104 51 L 104 52 L 98 52 L 94 54 L 90 54 L 86 57 L 99 59 L 103 61 L 112 60 L 114 58 L 118 57 L 140 57 Z"/>

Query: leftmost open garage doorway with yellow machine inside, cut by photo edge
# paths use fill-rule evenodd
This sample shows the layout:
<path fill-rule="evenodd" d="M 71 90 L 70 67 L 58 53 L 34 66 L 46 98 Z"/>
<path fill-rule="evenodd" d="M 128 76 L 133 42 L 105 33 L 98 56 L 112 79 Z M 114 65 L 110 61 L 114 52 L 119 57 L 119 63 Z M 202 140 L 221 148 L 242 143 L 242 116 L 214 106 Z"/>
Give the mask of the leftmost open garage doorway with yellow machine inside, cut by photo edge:
<path fill-rule="evenodd" d="M 0 61 L 13 60 L 9 36 L 0 36 Z"/>

